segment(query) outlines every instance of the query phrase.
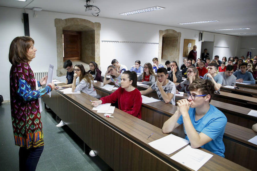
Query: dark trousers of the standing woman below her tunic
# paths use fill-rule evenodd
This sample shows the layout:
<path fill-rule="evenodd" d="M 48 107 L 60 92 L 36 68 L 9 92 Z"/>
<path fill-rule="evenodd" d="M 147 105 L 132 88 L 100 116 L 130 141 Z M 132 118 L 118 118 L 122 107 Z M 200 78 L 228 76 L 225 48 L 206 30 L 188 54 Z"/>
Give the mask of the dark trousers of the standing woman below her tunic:
<path fill-rule="evenodd" d="M 43 152 L 44 146 L 37 148 L 20 147 L 19 150 L 19 168 L 20 171 L 35 171 L 38 160 Z"/>

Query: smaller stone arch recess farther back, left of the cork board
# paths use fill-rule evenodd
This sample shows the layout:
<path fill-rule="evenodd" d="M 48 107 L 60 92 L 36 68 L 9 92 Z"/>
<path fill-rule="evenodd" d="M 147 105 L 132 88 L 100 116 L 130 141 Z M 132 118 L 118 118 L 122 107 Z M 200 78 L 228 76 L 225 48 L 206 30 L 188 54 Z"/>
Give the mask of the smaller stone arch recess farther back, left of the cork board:
<path fill-rule="evenodd" d="M 162 63 L 166 60 L 179 62 L 181 32 L 172 29 L 159 30 L 158 58 Z"/>

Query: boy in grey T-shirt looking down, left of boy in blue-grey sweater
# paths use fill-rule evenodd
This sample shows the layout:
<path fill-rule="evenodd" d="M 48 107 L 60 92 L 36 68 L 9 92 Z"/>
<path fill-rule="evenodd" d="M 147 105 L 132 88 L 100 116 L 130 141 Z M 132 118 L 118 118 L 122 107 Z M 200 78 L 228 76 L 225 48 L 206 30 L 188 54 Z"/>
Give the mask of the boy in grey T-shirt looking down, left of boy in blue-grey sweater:
<path fill-rule="evenodd" d="M 233 75 L 233 66 L 228 65 L 224 72 L 219 72 L 218 74 L 222 76 L 223 81 L 222 84 L 226 86 L 235 86 L 236 85 L 236 77 Z"/>

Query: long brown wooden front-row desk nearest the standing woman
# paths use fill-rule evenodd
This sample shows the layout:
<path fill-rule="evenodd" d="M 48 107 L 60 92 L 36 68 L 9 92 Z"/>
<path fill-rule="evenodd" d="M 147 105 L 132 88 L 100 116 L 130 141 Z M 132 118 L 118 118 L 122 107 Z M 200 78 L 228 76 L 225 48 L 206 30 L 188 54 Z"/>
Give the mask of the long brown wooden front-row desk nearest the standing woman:
<path fill-rule="evenodd" d="M 191 170 L 170 159 L 181 149 L 166 155 L 148 145 L 168 135 L 163 134 L 160 128 L 117 108 L 113 113 L 114 118 L 104 117 L 103 113 L 91 110 L 93 106 L 89 100 L 97 99 L 85 93 L 63 94 L 59 90 L 52 91 L 51 98 L 43 97 L 53 112 L 113 170 Z M 153 135 L 146 139 L 151 133 Z M 199 170 L 248 170 L 213 155 Z"/>

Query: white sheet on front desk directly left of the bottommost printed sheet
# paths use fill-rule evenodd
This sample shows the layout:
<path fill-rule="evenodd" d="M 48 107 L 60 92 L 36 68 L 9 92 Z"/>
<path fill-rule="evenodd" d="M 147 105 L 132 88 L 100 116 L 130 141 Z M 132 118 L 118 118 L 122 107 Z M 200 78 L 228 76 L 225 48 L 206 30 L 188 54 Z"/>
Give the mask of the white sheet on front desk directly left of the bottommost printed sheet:
<path fill-rule="evenodd" d="M 152 141 L 148 143 L 150 146 L 163 152 L 165 154 L 170 155 L 171 153 L 175 152 L 176 150 L 182 148 L 186 144 L 189 144 L 189 141 L 183 138 L 180 138 L 176 135 L 170 134 L 161 139 Z"/>

